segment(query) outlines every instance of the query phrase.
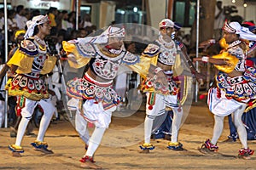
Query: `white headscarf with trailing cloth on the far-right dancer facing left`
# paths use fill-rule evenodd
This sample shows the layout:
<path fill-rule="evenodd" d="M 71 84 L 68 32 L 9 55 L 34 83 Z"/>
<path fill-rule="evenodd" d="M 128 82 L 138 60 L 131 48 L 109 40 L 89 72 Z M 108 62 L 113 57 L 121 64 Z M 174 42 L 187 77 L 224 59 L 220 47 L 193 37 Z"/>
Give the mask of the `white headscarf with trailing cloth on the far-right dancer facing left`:
<path fill-rule="evenodd" d="M 239 34 L 241 39 L 256 41 L 256 35 L 249 31 L 248 28 L 241 26 L 238 22 L 230 22 L 229 24 L 226 20 L 223 30 L 233 34 Z"/>

